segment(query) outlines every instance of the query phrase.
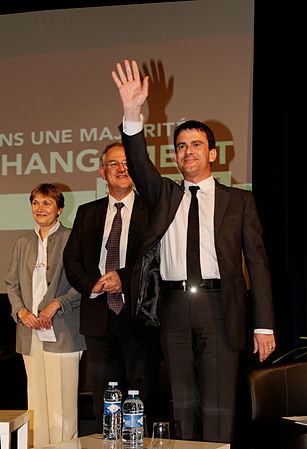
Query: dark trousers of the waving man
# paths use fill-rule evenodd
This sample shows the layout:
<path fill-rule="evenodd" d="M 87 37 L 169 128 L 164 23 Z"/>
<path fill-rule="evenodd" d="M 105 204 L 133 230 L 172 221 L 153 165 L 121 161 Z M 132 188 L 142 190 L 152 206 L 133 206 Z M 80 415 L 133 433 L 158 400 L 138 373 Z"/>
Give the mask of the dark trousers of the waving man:
<path fill-rule="evenodd" d="M 226 339 L 221 291 L 165 291 L 161 345 L 182 438 L 231 441 L 239 351 Z"/>

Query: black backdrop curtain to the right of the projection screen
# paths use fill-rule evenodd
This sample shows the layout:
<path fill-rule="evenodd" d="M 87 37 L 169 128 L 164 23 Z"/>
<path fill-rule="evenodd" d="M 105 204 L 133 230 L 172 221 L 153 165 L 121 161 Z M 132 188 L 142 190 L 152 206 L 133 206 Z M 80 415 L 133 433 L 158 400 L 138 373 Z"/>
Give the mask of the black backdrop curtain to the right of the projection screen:
<path fill-rule="evenodd" d="M 305 23 L 304 23 L 305 22 Z M 253 192 L 279 352 L 307 346 L 307 22 L 304 2 L 255 0 Z"/>

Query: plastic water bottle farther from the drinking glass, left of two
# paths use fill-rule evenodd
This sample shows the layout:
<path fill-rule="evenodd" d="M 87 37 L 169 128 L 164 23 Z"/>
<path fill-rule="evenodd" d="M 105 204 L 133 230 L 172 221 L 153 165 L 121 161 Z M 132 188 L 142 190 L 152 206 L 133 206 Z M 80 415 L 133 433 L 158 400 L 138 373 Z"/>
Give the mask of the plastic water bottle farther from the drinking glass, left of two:
<path fill-rule="evenodd" d="M 122 394 L 117 382 L 109 382 L 104 393 L 103 436 L 107 440 L 118 440 L 121 436 L 121 404 Z"/>

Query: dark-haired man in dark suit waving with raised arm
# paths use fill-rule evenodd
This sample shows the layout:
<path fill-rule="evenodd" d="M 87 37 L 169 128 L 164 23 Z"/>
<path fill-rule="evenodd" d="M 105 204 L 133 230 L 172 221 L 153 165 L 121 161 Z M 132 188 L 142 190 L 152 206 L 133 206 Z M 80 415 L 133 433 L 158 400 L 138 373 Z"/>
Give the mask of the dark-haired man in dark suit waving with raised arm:
<path fill-rule="evenodd" d="M 275 349 L 270 275 L 255 202 L 250 192 L 212 178 L 215 139 L 201 122 L 185 122 L 175 131 L 174 157 L 184 188 L 161 177 L 148 158 L 142 132 L 148 77 L 141 81 L 136 62 L 127 60 L 125 71 L 117 64 L 112 76 L 124 107 L 129 173 L 155 217 L 156 238 L 144 245 L 145 258 L 135 265 L 135 277 L 141 278 L 142 293 L 144 269 L 150 275 L 149 255 L 158 260 L 163 281 L 160 335 L 175 420 L 184 439 L 232 441 L 238 356 L 246 332 L 242 252 L 254 301 L 254 352 L 263 361 Z M 136 311 L 140 302 L 135 300 Z"/>

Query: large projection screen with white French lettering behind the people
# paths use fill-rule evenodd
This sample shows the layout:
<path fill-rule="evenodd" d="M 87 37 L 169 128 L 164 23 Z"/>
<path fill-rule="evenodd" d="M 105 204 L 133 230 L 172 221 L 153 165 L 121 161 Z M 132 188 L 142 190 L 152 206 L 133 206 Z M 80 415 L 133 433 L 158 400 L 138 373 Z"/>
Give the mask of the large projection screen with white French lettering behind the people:
<path fill-rule="evenodd" d="M 197 119 L 216 135 L 214 177 L 251 188 L 253 13 L 252 0 L 192 0 L 0 16 L 0 292 L 15 240 L 35 226 L 36 185 L 61 184 L 67 227 L 107 193 L 99 155 L 120 139 L 111 71 L 125 58 L 151 78 L 145 133 L 160 172 L 181 179 L 174 127 Z"/>

